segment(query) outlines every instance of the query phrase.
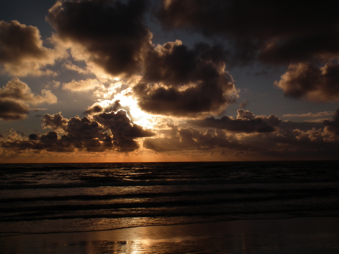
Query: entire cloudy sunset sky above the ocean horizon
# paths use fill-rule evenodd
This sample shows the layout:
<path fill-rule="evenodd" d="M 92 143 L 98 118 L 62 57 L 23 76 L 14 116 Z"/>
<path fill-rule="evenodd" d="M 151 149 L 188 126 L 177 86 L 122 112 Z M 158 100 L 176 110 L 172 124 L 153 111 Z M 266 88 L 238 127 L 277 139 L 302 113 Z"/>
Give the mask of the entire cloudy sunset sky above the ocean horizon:
<path fill-rule="evenodd" d="M 0 3 L 0 163 L 333 160 L 339 3 Z"/>

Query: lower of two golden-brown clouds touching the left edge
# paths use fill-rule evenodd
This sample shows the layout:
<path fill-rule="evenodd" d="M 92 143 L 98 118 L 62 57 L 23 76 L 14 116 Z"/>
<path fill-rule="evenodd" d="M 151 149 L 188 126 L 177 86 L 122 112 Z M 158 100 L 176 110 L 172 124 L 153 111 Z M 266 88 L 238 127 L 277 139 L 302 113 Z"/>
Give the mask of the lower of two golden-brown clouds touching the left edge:
<path fill-rule="evenodd" d="M 53 104 L 57 97 L 50 90 L 41 90 L 42 95 L 34 94 L 31 88 L 18 78 L 8 81 L 6 86 L 0 88 L 0 119 L 5 121 L 20 120 L 27 117 L 29 104 Z"/>

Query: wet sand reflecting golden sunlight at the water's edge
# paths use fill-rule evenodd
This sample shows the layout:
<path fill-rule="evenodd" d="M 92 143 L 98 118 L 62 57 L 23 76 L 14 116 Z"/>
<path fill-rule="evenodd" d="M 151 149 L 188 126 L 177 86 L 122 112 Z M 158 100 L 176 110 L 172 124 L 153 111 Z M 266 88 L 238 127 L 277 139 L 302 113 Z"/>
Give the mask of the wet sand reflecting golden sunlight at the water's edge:
<path fill-rule="evenodd" d="M 0 237 L 1 253 L 337 254 L 339 217 L 234 220 Z"/>

